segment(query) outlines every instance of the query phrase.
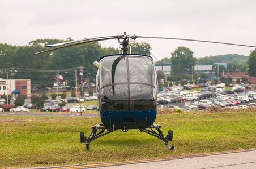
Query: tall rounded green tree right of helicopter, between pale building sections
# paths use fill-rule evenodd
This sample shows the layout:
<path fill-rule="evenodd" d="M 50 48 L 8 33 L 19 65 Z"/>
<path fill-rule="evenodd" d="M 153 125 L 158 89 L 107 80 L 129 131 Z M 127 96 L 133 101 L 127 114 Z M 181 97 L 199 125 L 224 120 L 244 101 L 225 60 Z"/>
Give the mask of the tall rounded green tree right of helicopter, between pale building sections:
<path fill-rule="evenodd" d="M 178 47 L 172 52 L 171 61 L 172 75 L 176 75 L 185 74 L 187 69 L 192 69 L 197 59 L 193 57 L 193 51 L 191 51 L 190 48 Z"/>

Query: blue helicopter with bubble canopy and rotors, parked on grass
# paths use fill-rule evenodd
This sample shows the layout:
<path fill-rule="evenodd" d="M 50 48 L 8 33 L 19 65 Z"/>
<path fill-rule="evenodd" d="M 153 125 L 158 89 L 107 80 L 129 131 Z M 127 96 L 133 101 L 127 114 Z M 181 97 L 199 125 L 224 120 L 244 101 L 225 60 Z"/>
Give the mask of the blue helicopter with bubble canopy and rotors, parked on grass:
<path fill-rule="evenodd" d="M 117 39 L 122 53 L 101 56 L 99 61 L 93 65 L 97 66 L 96 88 L 99 99 L 100 119 L 102 124 L 92 126 L 92 132 L 88 138 L 84 132 L 80 132 L 80 142 L 86 142 L 89 149 L 91 141 L 110 134 L 116 130 L 127 132 L 137 129 L 157 139 L 163 140 L 168 149 L 173 150 L 168 141 L 173 139 L 173 131 L 169 130 L 167 135 L 161 131 L 161 126 L 155 124 L 157 115 L 157 75 L 153 58 L 142 54 L 127 54 L 129 50 L 129 39 L 155 38 L 173 39 L 181 41 L 196 41 L 208 43 L 220 43 L 224 45 L 238 45 L 234 43 L 201 41 L 195 39 L 165 38 L 165 37 L 143 37 L 137 35 L 121 35 L 81 39 L 78 41 L 63 42 L 46 47 L 57 47 L 50 50 L 37 52 L 42 54 L 61 48 L 82 45 L 84 43 L 106 41 Z M 120 42 L 121 41 L 121 42 Z M 58 47 L 61 46 L 61 47 Z"/>

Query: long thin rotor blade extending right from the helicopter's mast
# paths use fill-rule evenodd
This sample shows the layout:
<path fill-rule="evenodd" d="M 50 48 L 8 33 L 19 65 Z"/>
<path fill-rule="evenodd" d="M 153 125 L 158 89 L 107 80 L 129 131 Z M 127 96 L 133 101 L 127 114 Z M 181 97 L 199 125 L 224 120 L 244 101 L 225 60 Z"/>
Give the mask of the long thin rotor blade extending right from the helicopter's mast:
<path fill-rule="evenodd" d="M 197 39 L 182 39 L 182 38 L 165 38 L 165 37 L 142 37 L 142 36 L 135 36 L 136 38 L 151 38 L 151 39 L 171 39 L 171 40 L 180 40 L 180 41 L 194 41 L 194 42 L 206 42 L 206 43 L 219 43 L 224 45 L 235 45 L 235 46 L 245 46 L 245 47 L 256 47 L 251 45 L 241 45 L 236 43 L 225 43 L 225 42 L 214 42 L 214 41 L 202 41 Z"/>

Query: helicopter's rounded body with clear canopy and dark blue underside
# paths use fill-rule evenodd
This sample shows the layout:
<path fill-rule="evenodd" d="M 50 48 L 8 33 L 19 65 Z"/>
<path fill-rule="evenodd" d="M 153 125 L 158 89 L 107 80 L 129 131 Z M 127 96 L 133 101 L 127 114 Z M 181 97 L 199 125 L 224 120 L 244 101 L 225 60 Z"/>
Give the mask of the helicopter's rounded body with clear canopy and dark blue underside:
<path fill-rule="evenodd" d="M 96 86 L 105 128 L 148 128 L 155 122 L 157 77 L 151 56 L 100 57 Z"/>

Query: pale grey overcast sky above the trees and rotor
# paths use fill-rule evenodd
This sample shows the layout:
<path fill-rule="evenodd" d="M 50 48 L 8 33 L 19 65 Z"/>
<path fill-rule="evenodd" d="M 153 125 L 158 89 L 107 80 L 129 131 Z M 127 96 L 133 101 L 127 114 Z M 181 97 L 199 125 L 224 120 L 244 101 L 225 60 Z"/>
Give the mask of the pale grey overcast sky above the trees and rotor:
<path fill-rule="evenodd" d="M 83 39 L 118 35 L 200 39 L 256 46 L 256 1 L 66 1 L 1 0 L 0 43 L 25 46 L 44 38 Z M 195 57 L 222 54 L 249 56 L 251 47 L 163 39 L 150 43 L 158 60 L 179 46 Z M 100 42 L 118 48 L 116 39 Z"/>

